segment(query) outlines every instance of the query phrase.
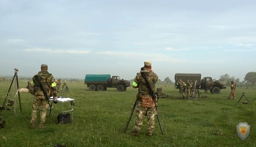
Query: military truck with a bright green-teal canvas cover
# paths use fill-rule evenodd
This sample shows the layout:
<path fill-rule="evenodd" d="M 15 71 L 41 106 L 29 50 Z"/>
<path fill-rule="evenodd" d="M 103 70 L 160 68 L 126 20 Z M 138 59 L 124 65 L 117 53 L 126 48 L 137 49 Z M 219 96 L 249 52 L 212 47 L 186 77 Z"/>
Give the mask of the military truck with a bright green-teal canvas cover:
<path fill-rule="evenodd" d="M 126 91 L 130 86 L 130 81 L 120 79 L 119 76 L 105 75 L 86 75 L 84 84 L 89 90 L 105 91 L 106 88 L 116 88 L 117 91 Z"/>

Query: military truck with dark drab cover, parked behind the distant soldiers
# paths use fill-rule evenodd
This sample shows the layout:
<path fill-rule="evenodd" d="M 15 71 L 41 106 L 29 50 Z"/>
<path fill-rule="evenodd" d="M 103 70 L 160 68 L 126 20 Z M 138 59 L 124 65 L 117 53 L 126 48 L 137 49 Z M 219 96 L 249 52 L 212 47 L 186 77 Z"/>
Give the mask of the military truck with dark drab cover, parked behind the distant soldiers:
<path fill-rule="evenodd" d="M 211 93 L 219 94 L 221 89 L 225 89 L 225 85 L 219 81 L 212 81 L 211 77 L 204 77 L 201 79 L 201 74 L 175 74 L 175 84 L 176 88 L 179 80 L 183 82 L 192 81 L 196 85 L 197 89 L 210 90 Z"/>

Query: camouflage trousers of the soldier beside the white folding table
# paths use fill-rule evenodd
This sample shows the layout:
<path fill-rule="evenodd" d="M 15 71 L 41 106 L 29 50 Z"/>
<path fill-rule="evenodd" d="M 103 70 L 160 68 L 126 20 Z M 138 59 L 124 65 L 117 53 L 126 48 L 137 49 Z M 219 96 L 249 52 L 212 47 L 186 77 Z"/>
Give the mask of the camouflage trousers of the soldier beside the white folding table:
<path fill-rule="evenodd" d="M 31 123 L 36 121 L 37 112 L 39 107 L 41 106 L 41 116 L 40 123 L 44 123 L 46 121 L 47 109 L 49 108 L 49 104 L 46 100 L 45 96 L 36 95 L 33 100 L 32 105 L 32 113 L 31 113 Z"/>

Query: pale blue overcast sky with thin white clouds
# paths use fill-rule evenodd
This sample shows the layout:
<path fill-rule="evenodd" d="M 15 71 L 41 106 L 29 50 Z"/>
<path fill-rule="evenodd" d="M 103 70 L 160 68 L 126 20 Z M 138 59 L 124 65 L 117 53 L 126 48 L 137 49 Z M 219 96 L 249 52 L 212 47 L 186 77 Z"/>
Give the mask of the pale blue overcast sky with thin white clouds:
<path fill-rule="evenodd" d="M 134 79 L 145 60 L 175 73 L 244 80 L 256 71 L 256 1 L 0 0 L 0 76 L 111 74 Z"/>

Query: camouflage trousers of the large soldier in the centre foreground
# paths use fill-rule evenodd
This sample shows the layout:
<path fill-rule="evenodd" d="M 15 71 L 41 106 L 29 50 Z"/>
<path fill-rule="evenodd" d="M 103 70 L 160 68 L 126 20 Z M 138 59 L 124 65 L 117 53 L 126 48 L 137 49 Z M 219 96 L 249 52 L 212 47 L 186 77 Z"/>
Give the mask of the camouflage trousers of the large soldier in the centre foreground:
<path fill-rule="evenodd" d="M 136 107 L 136 120 L 135 120 L 135 126 L 134 131 L 139 132 L 143 123 L 144 116 L 147 116 L 147 132 L 153 133 L 155 130 L 155 115 L 156 115 L 156 108 L 150 107 L 150 108 L 144 108 L 141 107 L 141 102 L 138 102 L 138 105 Z"/>

